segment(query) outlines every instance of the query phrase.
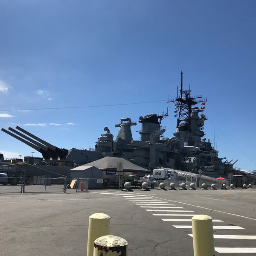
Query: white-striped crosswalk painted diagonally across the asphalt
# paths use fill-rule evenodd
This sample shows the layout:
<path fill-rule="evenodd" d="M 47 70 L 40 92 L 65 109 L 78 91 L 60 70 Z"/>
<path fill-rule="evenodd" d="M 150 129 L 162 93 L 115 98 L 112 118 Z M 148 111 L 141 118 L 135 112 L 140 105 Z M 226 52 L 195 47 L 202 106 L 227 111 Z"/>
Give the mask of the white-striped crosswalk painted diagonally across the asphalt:
<path fill-rule="evenodd" d="M 176 225 L 179 222 L 191 222 L 192 220 L 184 217 L 192 217 L 197 215 L 194 211 L 189 209 L 184 209 L 184 207 L 177 207 L 174 204 L 169 204 L 168 202 L 158 200 L 157 198 L 152 197 L 152 195 L 141 194 L 141 195 L 123 195 L 124 198 L 128 199 L 131 203 L 135 203 L 138 207 L 145 209 L 147 212 L 153 212 L 152 215 L 162 217 L 162 221 L 169 222 L 173 224 L 172 226 L 177 229 L 192 229 L 192 225 Z M 158 213 L 159 212 L 159 213 Z M 172 212 L 172 213 L 170 213 Z M 170 218 L 167 218 L 170 216 Z M 172 218 L 176 217 L 176 218 Z M 178 218 L 180 217 L 180 218 Z M 175 223 L 176 222 L 176 223 Z M 223 235 L 216 234 L 218 230 L 244 230 L 244 227 L 239 227 L 236 225 L 228 224 L 228 225 L 215 225 L 215 223 L 223 223 L 223 221 L 218 219 L 213 219 L 214 223 L 213 229 L 214 231 L 213 238 L 217 240 L 219 239 L 242 239 L 242 240 L 256 240 L 256 236 L 246 236 L 246 235 Z M 189 236 L 193 237 L 192 234 Z M 230 240 L 228 240 L 230 241 Z M 256 247 L 215 247 L 215 251 L 218 253 L 230 253 L 233 255 L 234 253 L 256 253 Z"/>

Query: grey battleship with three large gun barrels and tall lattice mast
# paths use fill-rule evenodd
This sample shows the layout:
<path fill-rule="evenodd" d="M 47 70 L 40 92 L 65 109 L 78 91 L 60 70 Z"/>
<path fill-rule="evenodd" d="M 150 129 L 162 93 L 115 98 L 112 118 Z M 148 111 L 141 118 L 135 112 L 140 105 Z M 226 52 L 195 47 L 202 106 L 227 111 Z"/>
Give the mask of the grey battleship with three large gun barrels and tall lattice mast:
<path fill-rule="evenodd" d="M 201 95 L 192 96 L 190 88 L 183 90 L 182 72 L 180 90 L 177 88 L 176 98 L 167 102 L 173 104 L 177 117 L 176 131 L 169 138 L 163 137 L 166 129 L 161 125 L 168 111 L 139 117 L 141 130 L 137 132 L 141 135 L 140 140 L 133 140 L 131 133 L 131 126 L 137 125 L 137 122 L 131 121 L 129 117 L 121 118 L 119 124 L 115 125 L 119 128 L 115 140 L 108 127 L 105 127 L 95 149 L 58 148 L 18 126 L 16 130 L 10 127 L 9 131 L 4 128 L 1 130 L 40 152 L 42 158 L 37 159 L 37 164 L 48 168 L 78 166 L 110 156 L 122 157 L 151 171 L 164 167 L 198 173 L 201 169 L 205 175 L 212 177 L 227 176 L 234 172 L 233 165 L 237 160 L 231 163 L 232 160 L 228 161 L 226 157 L 219 158 L 218 151 L 205 138 L 204 122 L 207 117 L 204 115 L 204 106 L 207 99 Z M 199 107 L 196 106 L 198 104 Z M 24 157 L 28 163 L 34 163 L 34 160 L 33 157 Z"/>

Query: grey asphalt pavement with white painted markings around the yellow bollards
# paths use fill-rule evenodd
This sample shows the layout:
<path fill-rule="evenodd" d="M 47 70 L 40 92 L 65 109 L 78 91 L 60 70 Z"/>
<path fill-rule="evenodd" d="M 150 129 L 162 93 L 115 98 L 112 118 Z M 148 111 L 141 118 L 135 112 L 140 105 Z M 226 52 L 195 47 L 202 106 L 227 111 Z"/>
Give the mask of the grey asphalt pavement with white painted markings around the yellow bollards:
<path fill-rule="evenodd" d="M 3 190 L 4 188 L 1 187 Z M 7 186 L 6 186 L 7 189 Z M 111 217 L 129 256 L 193 255 L 193 215 L 213 219 L 215 255 L 256 255 L 256 189 L 0 194 L 0 255 L 86 256 L 89 217 Z"/>

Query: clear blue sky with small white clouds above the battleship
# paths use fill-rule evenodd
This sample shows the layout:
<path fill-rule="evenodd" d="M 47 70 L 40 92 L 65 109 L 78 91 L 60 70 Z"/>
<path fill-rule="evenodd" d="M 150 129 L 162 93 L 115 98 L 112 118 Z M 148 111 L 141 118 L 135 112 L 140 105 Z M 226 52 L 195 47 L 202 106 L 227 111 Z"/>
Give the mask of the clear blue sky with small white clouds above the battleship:
<path fill-rule="evenodd" d="M 183 88 L 207 98 L 205 137 L 219 157 L 256 169 L 255 9 L 254 0 L 1 0 L 0 128 L 94 148 L 124 117 L 138 140 L 139 117 L 168 107 L 172 137 L 166 100 L 183 70 Z M 0 132 L 5 158 L 32 151 Z"/>

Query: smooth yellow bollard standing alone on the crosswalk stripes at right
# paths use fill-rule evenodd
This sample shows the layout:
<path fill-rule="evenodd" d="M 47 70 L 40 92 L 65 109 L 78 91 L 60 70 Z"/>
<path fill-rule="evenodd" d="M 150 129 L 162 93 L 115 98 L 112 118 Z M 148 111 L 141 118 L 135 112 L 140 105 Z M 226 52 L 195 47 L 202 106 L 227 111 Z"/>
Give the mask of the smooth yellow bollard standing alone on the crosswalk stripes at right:
<path fill-rule="evenodd" d="M 194 256 L 214 256 L 212 218 L 208 215 L 192 217 Z"/>

